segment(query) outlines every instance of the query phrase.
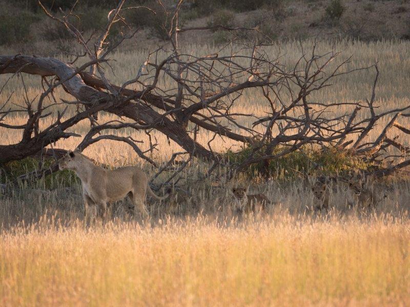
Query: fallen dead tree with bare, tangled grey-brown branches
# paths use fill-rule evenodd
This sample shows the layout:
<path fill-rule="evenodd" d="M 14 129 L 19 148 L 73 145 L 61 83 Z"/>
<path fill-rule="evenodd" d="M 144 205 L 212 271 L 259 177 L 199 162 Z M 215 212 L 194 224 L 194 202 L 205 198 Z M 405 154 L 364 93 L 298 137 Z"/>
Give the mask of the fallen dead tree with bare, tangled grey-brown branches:
<path fill-rule="evenodd" d="M 309 53 L 302 53 L 292 67 L 286 67 L 281 63 L 280 53 L 273 57 L 266 52 L 272 45 L 269 40 L 261 43 L 236 41 L 212 54 L 194 55 L 184 52 L 178 45 L 179 35 L 207 28 L 180 28 L 178 13 L 181 4 L 182 1 L 172 11 L 167 11 L 162 6 L 168 20 L 171 20 L 162 25 L 168 33 L 168 42 L 147 54 L 147 59 L 141 63 L 135 78 L 124 80 L 121 85 L 113 84 L 106 77 L 105 69 L 109 67 L 110 53 L 120 46 L 122 40 L 110 46 L 106 39 L 115 23 L 126 24 L 122 16 L 124 11 L 147 8 L 125 7 L 126 1 L 121 1 L 110 12 L 106 29 L 92 43 L 70 24 L 68 15 L 57 18 L 43 7 L 50 18 L 63 24 L 77 38 L 89 61 L 75 68 L 72 63 L 55 58 L 0 55 L 0 74 L 9 74 L 10 78 L 23 74 L 37 75 L 42 77 L 45 85 L 42 95 L 33 101 L 25 97 L 10 97 L 2 102 L 0 127 L 21 130 L 22 139 L 15 144 L 0 145 L 0 163 L 38 156 L 59 139 L 80 137 L 70 132 L 70 128 L 80 121 L 89 120 L 90 131 L 79 142 L 80 150 L 100 140 L 116 140 L 129 144 L 141 159 L 159 167 L 146 155 L 157 144 L 151 142 L 148 150 L 142 150 L 131 137 L 104 134 L 108 129 L 132 128 L 146 131 L 149 135 L 155 129 L 178 144 L 183 153 L 188 154 L 189 160 L 197 158 L 210 161 L 212 167 L 207 175 L 216 165 L 221 164 L 228 167 L 231 174 L 256 163 L 268 165 L 270 161 L 289 155 L 306 145 L 336 147 L 366 161 L 374 161 L 380 165 L 380 169 L 374 173 L 380 176 L 410 164 L 408 160 L 402 161 L 410 150 L 400 144 L 396 137 L 388 136 L 392 129 L 410 134 L 410 130 L 399 123 L 401 117 L 409 116 L 405 112 L 410 106 L 376 113 L 375 92 L 379 76 L 377 65 L 370 67 L 376 70 L 376 76 L 371 97 L 366 102 L 319 103 L 311 99 L 312 93 L 330 86 L 337 77 L 357 70 L 347 69 L 350 58 L 333 64 L 340 53 L 331 51 L 318 54 L 313 46 Z M 256 28 L 218 28 L 227 31 L 258 31 Z M 137 34 L 138 32 L 132 32 L 130 37 Z M 123 39 L 127 39 L 127 36 Z M 165 87 L 165 80 L 172 86 Z M 140 90 L 130 89 L 131 85 L 137 85 Z M 53 93 L 57 87 L 62 87 L 73 100 L 56 99 Z M 245 114 L 233 112 L 242 96 L 255 93 L 261 94 L 262 101 L 258 103 L 269 109 L 268 116 L 257 118 L 252 109 Z M 51 103 L 45 104 L 46 99 Z M 77 111 L 68 115 L 67 110 L 72 105 L 77 106 Z M 54 112 L 53 109 L 59 111 Z M 340 114 L 334 112 L 335 109 L 350 111 Z M 358 112 L 363 110 L 367 111 L 367 116 L 359 119 Z M 97 115 L 101 111 L 116 115 L 118 120 L 98 123 Z M 16 114 L 25 114 L 27 122 L 24 125 L 10 123 L 8 119 Z M 388 123 L 381 134 L 370 140 L 370 131 L 386 118 Z M 47 127 L 40 129 L 40 122 L 45 119 L 53 120 Z M 244 125 L 243 120 L 252 122 L 252 126 Z M 197 141 L 197 135 L 203 131 L 213 135 L 207 144 Z M 247 144 L 252 150 L 240 163 L 227 161 L 224 152 L 218 152 L 213 147 L 213 141 L 217 137 Z M 388 147 L 399 152 L 394 159 L 398 162 L 385 167 L 384 162 L 391 158 L 385 154 Z M 57 155 L 55 157 L 58 158 Z M 187 165 L 187 161 L 182 162 L 183 165 Z M 181 169 L 179 167 L 177 171 Z M 32 176 L 39 178 L 55 170 L 56 164 L 21 179 Z M 163 167 L 160 171 L 163 171 Z M 171 178 L 174 177 L 175 173 Z"/>

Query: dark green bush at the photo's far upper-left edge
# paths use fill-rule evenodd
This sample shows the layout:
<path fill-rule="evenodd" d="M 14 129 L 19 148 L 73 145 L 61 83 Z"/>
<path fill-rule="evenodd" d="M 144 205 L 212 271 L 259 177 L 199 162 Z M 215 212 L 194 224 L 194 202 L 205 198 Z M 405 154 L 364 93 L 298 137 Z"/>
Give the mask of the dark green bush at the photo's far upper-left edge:
<path fill-rule="evenodd" d="M 26 11 L 0 13 L 0 45 L 29 40 L 30 26 L 38 20 L 38 15 Z"/>

